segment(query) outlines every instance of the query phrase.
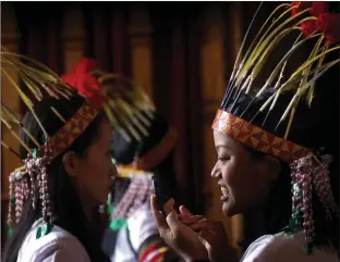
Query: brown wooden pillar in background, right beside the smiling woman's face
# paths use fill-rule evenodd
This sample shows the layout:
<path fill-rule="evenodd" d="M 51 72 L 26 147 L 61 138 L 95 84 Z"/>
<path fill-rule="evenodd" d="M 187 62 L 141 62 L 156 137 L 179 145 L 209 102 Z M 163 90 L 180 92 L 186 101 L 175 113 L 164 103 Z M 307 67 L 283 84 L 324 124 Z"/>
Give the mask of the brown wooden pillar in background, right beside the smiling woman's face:
<path fill-rule="evenodd" d="M 223 53 L 223 18 L 220 3 L 211 3 L 202 13 L 202 47 L 201 47 L 201 75 L 204 99 L 204 178 L 206 215 L 214 220 L 226 221 L 229 229 L 229 220 L 221 211 L 221 191 L 217 182 L 210 177 L 216 163 L 211 123 L 220 100 L 224 93 L 224 53 Z"/>

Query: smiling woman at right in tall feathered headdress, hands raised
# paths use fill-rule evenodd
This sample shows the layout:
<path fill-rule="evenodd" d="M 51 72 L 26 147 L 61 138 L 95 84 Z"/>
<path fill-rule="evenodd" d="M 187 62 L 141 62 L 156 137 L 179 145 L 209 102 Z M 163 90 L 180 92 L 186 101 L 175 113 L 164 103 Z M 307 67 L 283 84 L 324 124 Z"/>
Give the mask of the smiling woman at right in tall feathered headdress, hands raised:
<path fill-rule="evenodd" d="M 241 259 L 243 262 L 339 261 L 338 148 L 335 150 L 326 141 L 328 130 L 309 104 L 316 79 L 339 64 L 340 59 L 330 62 L 319 59 L 329 50 L 339 50 L 339 46 L 330 49 L 336 34 L 331 28 L 336 26 L 330 22 L 328 30 L 323 27 L 323 18 L 333 14 L 318 4 L 325 3 L 295 2 L 276 9 L 275 12 L 283 9 L 280 18 L 264 27 L 267 32 L 257 39 L 248 57 L 241 63 L 236 61 L 212 124 L 218 160 L 211 176 L 222 190 L 223 213 L 231 216 L 260 210 L 270 234 L 252 242 Z M 291 10 L 293 17 L 286 18 Z M 326 13 L 316 12 L 320 10 Z M 304 17 L 307 12 L 311 15 Z M 258 73 L 254 67 L 260 71 L 264 65 L 257 55 L 268 55 L 280 39 L 278 35 L 288 34 L 308 20 L 319 23 L 315 30 L 303 32 L 307 38 L 319 39 L 308 59 L 282 80 L 276 73 L 284 72 L 290 57 L 284 55 L 264 86 L 253 88 Z M 304 39 L 299 38 L 288 54 L 303 43 Z M 270 85 L 275 88 L 269 88 Z M 181 214 L 177 214 L 172 204 L 173 201 L 167 203 L 169 214 L 163 219 L 151 197 L 160 235 L 185 261 L 236 261 L 221 226 L 193 216 L 183 207 Z"/>

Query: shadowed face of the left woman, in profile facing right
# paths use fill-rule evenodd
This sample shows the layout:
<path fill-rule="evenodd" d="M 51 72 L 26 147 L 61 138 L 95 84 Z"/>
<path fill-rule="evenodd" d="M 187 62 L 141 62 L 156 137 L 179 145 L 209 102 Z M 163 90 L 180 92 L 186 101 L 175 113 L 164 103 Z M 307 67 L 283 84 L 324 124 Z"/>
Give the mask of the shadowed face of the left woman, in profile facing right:
<path fill-rule="evenodd" d="M 85 157 L 71 152 L 66 162 L 77 194 L 87 207 L 104 204 L 117 176 L 111 161 L 112 129 L 107 121 L 101 121 L 95 141 L 87 148 Z M 70 152 L 69 152 L 70 154 Z"/>

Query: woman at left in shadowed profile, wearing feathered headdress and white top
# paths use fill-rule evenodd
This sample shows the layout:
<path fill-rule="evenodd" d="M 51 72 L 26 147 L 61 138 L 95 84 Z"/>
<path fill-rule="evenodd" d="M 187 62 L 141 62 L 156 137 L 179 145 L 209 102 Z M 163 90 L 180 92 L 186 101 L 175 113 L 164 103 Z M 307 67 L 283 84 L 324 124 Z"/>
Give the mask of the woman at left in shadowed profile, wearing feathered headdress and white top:
<path fill-rule="evenodd" d="M 117 96 L 108 98 L 110 90 L 99 92 L 99 87 L 105 90 L 109 77 L 106 83 L 100 82 L 101 76 L 93 77 L 92 61 L 84 61 L 62 82 L 50 70 L 41 70 L 37 63 L 35 67 L 27 66 L 16 58 L 17 54 L 1 52 L 5 65 L 20 72 L 23 82 L 29 84 L 28 90 L 40 101 L 31 108 L 29 97 L 20 92 L 29 109 L 20 124 L 20 135 L 15 136 L 25 166 L 10 178 L 9 224 L 12 225 L 15 208 L 17 225 L 7 244 L 3 261 L 109 261 L 101 252 L 100 238 L 92 229 L 90 216 L 95 207 L 106 202 L 117 175 L 111 159 L 114 123 L 109 120 L 116 121 L 114 127 L 122 128 L 117 124 L 117 114 L 126 117 L 127 124 L 132 117 L 119 107 L 116 114 L 111 112 L 107 117 L 104 108 L 107 102 L 116 103 Z M 116 90 L 112 85 L 111 88 Z M 92 100 L 85 99 L 85 95 Z M 119 101 L 125 102 L 125 109 L 139 108 L 130 95 L 123 95 L 126 100 L 119 96 Z M 2 105 L 1 121 L 8 127 L 13 115 Z"/>

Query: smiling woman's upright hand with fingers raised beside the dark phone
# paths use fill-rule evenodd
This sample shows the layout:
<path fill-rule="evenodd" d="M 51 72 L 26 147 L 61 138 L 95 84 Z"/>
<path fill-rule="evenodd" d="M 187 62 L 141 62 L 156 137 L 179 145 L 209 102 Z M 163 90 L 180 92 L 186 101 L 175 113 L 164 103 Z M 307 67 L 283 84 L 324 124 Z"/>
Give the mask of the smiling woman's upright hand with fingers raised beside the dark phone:
<path fill-rule="evenodd" d="M 158 210 L 156 196 L 151 196 L 153 214 L 160 237 L 187 262 L 208 259 L 208 251 L 203 240 L 194 230 L 180 222 L 173 203 L 173 199 L 166 203 L 165 210 L 168 215 L 165 219 Z"/>

